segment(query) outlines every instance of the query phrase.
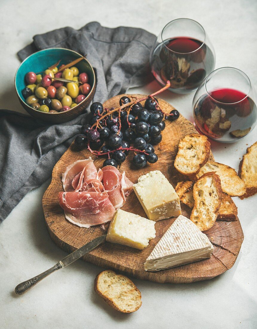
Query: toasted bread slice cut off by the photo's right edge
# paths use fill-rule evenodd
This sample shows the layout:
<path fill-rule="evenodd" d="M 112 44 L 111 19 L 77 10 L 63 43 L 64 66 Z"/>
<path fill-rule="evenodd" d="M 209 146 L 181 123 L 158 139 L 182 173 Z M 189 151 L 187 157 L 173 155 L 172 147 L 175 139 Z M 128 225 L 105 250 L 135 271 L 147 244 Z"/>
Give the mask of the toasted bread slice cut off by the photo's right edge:
<path fill-rule="evenodd" d="M 246 186 L 242 199 L 257 193 L 257 142 L 247 147 L 239 165 L 239 176 L 245 181 Z"/>

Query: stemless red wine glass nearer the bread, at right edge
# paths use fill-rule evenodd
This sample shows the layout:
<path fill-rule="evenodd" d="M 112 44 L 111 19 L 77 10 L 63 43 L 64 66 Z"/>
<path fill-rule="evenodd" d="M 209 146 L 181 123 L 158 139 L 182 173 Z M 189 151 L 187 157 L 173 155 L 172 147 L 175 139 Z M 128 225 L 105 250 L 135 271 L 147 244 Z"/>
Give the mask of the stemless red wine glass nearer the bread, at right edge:
<path fill-rule="evenodd" d="M 257 121 L 256 92 L 248 76 L 234 67 L 211 72 L 193 100 L 199 131 L 220 142 L 234 142 L 253 130 Z"/>

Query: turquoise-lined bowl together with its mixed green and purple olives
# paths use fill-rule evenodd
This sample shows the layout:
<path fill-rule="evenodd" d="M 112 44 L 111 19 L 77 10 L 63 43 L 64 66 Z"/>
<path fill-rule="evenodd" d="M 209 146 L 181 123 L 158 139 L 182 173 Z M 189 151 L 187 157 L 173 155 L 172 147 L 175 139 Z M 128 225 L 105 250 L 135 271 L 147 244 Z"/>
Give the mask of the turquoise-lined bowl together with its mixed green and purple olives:
<path fill-rule="evenodd" d="M 64 48 L 48 48 L 27 57 L 18 67 L 14 79 L 23 108 L 35 118 L 50 123 L 66 122 L 82 114 L 95 93 L 96 79 L 91 64 L 83 58 L 58 72 L 64 65 L 81 57 L 79 53 Z M 57 67 L 49 69 L 55 63 L 58 63 Z M 85 80 L 90 88 L 79 88 Z"/>

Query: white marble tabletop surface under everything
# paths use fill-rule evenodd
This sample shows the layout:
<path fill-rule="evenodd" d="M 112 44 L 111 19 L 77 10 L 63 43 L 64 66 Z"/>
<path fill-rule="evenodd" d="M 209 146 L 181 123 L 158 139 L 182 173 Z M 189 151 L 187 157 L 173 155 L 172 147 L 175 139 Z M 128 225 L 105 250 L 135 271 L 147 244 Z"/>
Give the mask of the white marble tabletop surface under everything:
<path fill-rule="evenodd" d="M 32 36 L 89 21 L 115 27 L 130 25 L 158 34 L 170 20 L 188 17 L 206 29 L 216 50 L 216 68 L 243 70 L 257 88 L 255 0 L 212 1 L 0 1 L 0 108 L 24 112 L 14 93 L 19 65 L 16 52 Z M 151 93 L 156 82 L 131 90 Z M 162 97 L 192 120 L 193 94 Z M 257 139 L 257 128 L 242 141 L 212 142 L 216 161 L 238 168 L 240 158 Z M 41 199 L 50 181 L 30 192 L 0 225 L 0 328 L 256 328 L 257 196 L 234 198 L 245 240 L 235 265 L 210 281 L 171 285 L 133 280 L 142 293 L 142 307 L 124 315 L 111 309 L 93 290 L 102 270 L 78 261 L 58 271 L 25 295 L 19 282 L 46 270 L 66 254 L 49 238 Z M 15 184 L 15 182 L 13 182 Z"/>

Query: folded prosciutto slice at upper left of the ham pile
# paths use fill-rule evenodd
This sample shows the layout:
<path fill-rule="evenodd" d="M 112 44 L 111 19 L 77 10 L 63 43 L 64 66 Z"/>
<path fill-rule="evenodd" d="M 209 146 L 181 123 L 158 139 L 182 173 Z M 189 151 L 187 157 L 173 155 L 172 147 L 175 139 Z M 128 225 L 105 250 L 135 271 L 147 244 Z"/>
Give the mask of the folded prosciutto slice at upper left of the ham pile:
<path fill-rule="evenodd" d="M 89 179 L 96 179 L 97 175 L 98 173 L 91 157 L 85 160 L 75 161 L 73 164 L 70 164 L 62 174 L 63 189 L 65 192 L 79 190 L 79 184 Z"/>

